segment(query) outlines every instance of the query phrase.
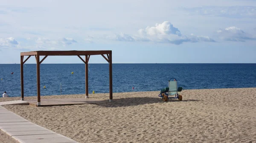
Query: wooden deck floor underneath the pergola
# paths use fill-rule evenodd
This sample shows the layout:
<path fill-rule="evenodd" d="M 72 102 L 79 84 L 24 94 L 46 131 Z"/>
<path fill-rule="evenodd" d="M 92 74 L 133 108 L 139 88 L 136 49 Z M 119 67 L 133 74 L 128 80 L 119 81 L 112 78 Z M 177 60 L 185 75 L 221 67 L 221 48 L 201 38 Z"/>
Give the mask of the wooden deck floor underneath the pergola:
<path fill-rule="evenodd" d="M 59 99 L 41 99 L 41 105 L 37 105 L 37 100 L 25 100 L 29 105 L 42 106 L 56 106 L 56 105 L 74 105 L 74 104 L 88 104 L 99 103 L 102 100 L 95 98 L 59 98 Z"/>

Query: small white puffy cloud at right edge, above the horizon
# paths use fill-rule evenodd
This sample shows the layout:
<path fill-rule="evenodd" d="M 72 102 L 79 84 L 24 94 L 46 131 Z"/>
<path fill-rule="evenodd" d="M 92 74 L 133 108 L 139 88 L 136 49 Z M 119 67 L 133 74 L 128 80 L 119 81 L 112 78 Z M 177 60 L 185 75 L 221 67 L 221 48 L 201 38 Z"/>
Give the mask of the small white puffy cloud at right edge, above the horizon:
<path fill-rule="evenodd" d="M 225 29 L 220 29 L 217 31 L 220 39 L 225 41 L 240 41 L 245 42 L 245 40 L 256 40 L 251 34 L 247 34 L 237 27 L 228 27 Z"/>

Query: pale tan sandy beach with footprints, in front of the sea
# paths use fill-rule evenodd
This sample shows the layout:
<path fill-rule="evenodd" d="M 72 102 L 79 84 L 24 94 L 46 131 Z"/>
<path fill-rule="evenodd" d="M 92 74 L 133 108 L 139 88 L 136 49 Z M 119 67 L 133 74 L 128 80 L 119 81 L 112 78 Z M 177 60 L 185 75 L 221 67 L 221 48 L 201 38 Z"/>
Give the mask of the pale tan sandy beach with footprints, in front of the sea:
<path fill-rule="evenodd" d="M 97 104 L 3 107 L 80 143 L 256 143 L 256 88 L 183 90 L 183 101 L 168 102 L 159 93 L 113 93 L 111 103 L 102 93 L 89 95 L 105 100 Z"/>

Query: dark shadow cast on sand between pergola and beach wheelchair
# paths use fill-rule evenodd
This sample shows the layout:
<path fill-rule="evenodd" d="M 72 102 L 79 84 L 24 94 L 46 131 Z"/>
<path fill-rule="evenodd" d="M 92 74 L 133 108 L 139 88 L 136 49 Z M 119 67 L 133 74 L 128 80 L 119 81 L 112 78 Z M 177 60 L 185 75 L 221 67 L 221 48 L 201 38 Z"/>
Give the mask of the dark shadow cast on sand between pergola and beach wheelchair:
<path fill-rule="evenodd" d="M 168 102 L 192 102 L 192 101 L 200 101 L 200 100 L 182 100 L 179 101 L 176 99 L 169 99 Z M 117 98 L 113 99 L 113 101 L 109 102 L 109 100 L 100 101 L 97 103 L 90 103 L 102 107 L 129 107 L 129 106 L 137 106 L 143 104 L 153 104 L 153 103 L 164 103 L 161 98 L 152 98 L 152 97 L 133 97 L 133 98 Z"/>

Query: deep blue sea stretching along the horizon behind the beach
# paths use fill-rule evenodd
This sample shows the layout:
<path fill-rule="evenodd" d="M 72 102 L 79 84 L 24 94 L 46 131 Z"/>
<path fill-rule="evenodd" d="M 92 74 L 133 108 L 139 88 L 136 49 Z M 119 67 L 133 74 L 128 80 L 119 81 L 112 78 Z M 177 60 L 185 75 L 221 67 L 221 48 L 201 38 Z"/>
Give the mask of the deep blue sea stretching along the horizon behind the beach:
<path fill-rule="evenodd" d="M 89 93 L 108 93 L 108 64 L 89 66 Z M 41 95 L 85 93 L 84 64 L 40 68 Z M 256 87 L 256 64 L 113 64 L 113 92 L 160 91 L 173 77 L 183 89 Z M 20 96 L 20 64 L 0 64 L 0 79 L 0 95 Z M 25 64 L 24 95 L 36 96 L 36 86 L 36 64 Z"/>

